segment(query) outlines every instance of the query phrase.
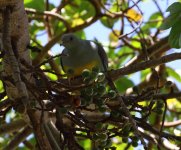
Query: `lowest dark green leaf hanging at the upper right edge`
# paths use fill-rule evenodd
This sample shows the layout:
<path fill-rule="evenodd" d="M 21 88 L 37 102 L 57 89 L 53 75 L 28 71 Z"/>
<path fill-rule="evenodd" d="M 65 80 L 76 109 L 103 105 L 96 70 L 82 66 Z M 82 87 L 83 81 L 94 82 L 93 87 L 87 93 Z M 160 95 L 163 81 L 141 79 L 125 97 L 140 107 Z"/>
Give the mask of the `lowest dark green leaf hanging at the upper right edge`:
<path fill-rule="evenodd" d="M 181 37 L 181 20 L 179 20 L 171 29 L 168 42 L 173 48 L 180 48 L 180 37 Z"/>

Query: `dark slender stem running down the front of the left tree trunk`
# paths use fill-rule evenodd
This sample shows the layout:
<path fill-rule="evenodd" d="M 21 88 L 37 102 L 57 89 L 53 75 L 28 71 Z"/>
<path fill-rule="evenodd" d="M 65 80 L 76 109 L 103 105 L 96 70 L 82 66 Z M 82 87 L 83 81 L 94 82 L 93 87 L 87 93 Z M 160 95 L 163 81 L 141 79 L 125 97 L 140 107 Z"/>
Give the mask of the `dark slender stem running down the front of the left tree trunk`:
<path fill-rule="evenodd" d="M 16 91 L 17 96 L 18 96 L 17 98 L 20 99 L 22 103 L 25 104 L 25 106 L 27 106 L 27 113 L 33 125 L 33 129 L 34 129 L 39 146 L 43 150 L 50 150 L 51 147 L 45 136 L 42 126 L 40 125 L 38 112 L 35 112 L 32 109 L 32 107 L 29 105 L 30 99 L 27 92 L 27 88 L 24 82 L 21 80 L 20 63 L 18 62 L 17 57 L 15 57 L 15 53 L 13 51 L 14 49 L 12 49 L 12 43 L 11 43 L 12 39 L 11 39 L 11 32 L 10 32 L 11 31 L 11 17 L 10 16 L 11 16 L 11 11 L 10 11 L 10 8 L 7 7 L 4 11 L 4 16 L 3 16 L 3 23 L 4 23 L 3 24 L 3 46 L 4 46 L 4 51 L 6 52 L 5 53 L 6 59 L 4 61 L 8 65 L 10 65 L 12 76 L 15 82 L 15 88 L 17 88 L 17 91 Z M 14 97 L 12 98 L 13 100 L 15 99 Z"/>

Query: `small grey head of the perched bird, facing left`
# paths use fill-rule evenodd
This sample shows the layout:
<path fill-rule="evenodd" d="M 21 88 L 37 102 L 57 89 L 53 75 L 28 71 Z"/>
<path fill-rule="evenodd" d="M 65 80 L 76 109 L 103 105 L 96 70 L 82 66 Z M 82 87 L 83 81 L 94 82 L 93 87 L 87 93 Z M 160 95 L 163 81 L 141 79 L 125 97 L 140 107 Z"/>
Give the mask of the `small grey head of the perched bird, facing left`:
<path fill-rule="evenodd" d="M 67 49 L 74 48 L 76 45 L 79 45 L 80 39 L 78 39 L 74 34 L 67 33 L 61 37 L 61 45 Z"/>

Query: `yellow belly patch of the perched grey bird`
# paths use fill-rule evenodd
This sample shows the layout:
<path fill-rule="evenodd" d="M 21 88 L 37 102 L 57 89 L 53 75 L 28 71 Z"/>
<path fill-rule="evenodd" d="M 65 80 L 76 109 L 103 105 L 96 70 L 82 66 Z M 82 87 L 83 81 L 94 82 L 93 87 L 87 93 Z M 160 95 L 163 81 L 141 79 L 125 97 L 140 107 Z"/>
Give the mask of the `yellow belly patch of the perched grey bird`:
<path fill-rule="evenodd" d="M 98 66 L 99 67 L 99 62 L 98 61 L 92 61 L 87 64 L 82 64 L 82 66 L 77 66 L 77 67 L 70 67 L 70 66 L 63 66 L 65 73 L 69 77 L 75 77 L 75 76 L 80 76 L 82 74 L 82 71 L 84 69 L 89 69 L 92 70 L 93 67 Z M 71 72 L 71 73 L 70 73 Z"/>

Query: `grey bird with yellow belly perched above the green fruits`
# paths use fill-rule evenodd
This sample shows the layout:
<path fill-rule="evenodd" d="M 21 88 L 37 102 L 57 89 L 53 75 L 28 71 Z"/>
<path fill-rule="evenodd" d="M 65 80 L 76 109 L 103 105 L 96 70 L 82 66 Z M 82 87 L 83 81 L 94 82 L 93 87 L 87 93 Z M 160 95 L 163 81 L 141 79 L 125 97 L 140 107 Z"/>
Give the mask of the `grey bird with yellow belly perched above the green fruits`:
<path fill-rule="evenodd" d="M 64 46 L 60 63 L 69 77 L 80 76 L 84 69 L 98 67 L 101 72 L 108 69 L 108 58 L 102 45 L 95 41 L 83 40 L 73 33 L 61 37 Z"/>

